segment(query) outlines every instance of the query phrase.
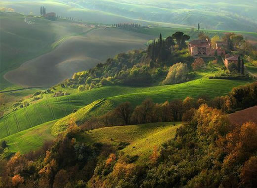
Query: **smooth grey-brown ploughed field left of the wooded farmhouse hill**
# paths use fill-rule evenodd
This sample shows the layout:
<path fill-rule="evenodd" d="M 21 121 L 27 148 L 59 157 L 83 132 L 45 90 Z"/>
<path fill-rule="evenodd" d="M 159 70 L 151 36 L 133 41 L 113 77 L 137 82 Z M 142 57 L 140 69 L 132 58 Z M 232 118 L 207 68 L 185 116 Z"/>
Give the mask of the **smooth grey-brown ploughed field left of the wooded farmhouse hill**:
<path fill-rule="evenodd" d="M 53 51 L 22 64 L 4 78 L 21 86 L 52 86 L 118 53 L 144 48 L 151 38 L 153 36 L 115 28 L 91 29 L 70 36 Z"/>

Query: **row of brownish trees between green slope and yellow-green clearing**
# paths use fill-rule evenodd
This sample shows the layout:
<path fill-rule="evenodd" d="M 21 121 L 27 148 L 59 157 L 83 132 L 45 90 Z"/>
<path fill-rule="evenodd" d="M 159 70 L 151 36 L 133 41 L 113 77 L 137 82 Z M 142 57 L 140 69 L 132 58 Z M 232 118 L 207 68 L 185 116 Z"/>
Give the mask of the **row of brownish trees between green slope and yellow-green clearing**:
<path fill-rule="evenodd" d="M 257 82 L 235 87 L 229 95 L 214 99 L 204 95 L 198 99 L 186 97 L 184 100 L 154 103 L 149 98 L 135 108 L 131 103 L 125 102 L 102 116 L 92 117 L 80 126 L 84 127 L 85 130 L 90 130 L 108 126 L 188 121 L 202 104 L 208 104 L 212 108 L 221 110 L 222 113 L 233 113 L 235 110 L 253 107 L 257 105 Z"/>

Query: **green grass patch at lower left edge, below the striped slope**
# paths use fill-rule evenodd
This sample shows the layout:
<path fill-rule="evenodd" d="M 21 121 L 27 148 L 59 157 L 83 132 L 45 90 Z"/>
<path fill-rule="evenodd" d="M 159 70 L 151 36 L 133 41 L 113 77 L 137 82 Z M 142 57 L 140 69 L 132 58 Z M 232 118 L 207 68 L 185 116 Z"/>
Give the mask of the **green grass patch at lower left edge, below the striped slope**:
<path fill-rule="evenodd" d="M 0 154 L 0 157 L 5 158 L 18 151 L 24 154 L 31 150 L 40 149 L 43 146 L 43 142 L 53 140 L 55 138 L 51 135 L 50 129 L 54 122 L 55 121 L 49 121 L 5 137 L 2 140 L 7 142 L 8 147 L 2 154 Z"/>

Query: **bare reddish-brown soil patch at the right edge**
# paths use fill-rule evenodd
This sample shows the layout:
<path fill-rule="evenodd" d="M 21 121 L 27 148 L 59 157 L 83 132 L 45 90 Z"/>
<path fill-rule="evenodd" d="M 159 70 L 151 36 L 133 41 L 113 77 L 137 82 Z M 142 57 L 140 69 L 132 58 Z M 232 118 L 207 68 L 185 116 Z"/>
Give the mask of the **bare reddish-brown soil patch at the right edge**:
<path fill-rule="evenodd" d="M 249 121 L 257 122 L 257 106 L 251 107 L 228 115 L 229 122 L 235 125 L 242 125 Z"/>

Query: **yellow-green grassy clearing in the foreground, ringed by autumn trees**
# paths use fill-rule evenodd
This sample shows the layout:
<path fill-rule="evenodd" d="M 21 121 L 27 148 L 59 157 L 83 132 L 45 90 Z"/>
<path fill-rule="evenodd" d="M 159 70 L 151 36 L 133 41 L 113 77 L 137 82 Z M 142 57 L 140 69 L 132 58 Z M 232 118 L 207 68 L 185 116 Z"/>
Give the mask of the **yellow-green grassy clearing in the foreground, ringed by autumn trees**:
<path fill-rule="evenodd" d="M 121 151 L 129 155 L 138 155 L 137 162 L 141 162 L 149 159 L 155 146 L 159 147 L 173 138 L 180 126 L 182 124 L 179 122 L 167 122 L 105 127 L 85 132 L 77 139 L 91 144 L 100 142 L 113 146 L 120 142 L 128 142 L 130 144 Z"/>

